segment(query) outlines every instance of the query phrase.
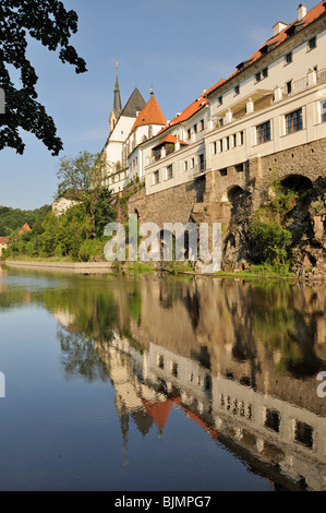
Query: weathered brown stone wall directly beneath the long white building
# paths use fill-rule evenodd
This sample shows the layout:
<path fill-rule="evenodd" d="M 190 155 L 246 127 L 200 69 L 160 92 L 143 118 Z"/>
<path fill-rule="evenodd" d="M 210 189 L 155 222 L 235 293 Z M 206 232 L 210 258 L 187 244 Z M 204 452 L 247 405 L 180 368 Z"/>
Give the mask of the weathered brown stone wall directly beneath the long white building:
<path fill-rule="evenodd" d="M 201 205 L 201 220 L 205 222 L 205 212 L 210 212 L 213 205 L 225 205 L 221 210 L 214 208 L 215 213 L 220 211 L 221 216 L 215 222 L 225 223 L 229 217 L 226 210 L 237 199 L 237 192 L 241 190 L 249 192 L 256 207 L 266 198 L 276 177 L 283 179 L 299 175 L 314 183 L 326 172 L 325 155 L 326 139 L 267 157 L 257 156 L 240 166 L 210 170 L 206 177 L 148 196 L 142 189 L 130 199 L 128 213 L 136 212 L 141 222 L 152 222 L 162 226 L 164 223 L 186 224 L 192 217 L 193 210 L 198 210 L 198 205 Z"/>

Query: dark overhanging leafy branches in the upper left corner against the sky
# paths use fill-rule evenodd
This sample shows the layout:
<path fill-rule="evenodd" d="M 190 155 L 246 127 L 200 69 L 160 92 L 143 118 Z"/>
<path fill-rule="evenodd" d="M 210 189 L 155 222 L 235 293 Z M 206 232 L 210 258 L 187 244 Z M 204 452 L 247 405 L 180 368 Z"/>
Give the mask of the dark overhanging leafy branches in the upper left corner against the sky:
<path fill-rule="evenodd" d="M 26 56 L 27 37 L 39 40 L 56 51 L 59 58 L 84 73 L 86 63 L 69 44 L 77 32 L 77 14 L 67 11 L 59 0 L 2 0 L 0 3 L 0 87 L 5 92 L 5 120 L 0 124 L 0 150 L 13 147 L 24 153 L 25 144 L 19 133 L 22 128 L 32 132 L 46 147 L 58 155 L 62 141 L 45 107 L 37 102 L 37 75 Z M 10 75 L 11 68 L 20 70 L 21 88 Z"/>

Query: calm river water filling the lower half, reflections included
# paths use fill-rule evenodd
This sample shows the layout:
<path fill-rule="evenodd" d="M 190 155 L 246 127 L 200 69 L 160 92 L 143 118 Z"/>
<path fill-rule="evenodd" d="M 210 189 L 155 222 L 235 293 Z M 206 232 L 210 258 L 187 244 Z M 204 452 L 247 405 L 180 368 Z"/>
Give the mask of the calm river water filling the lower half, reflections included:
<path fill-rule="evenodd" d="M 324 284 L 0 267 L 0 490 L 325 490 L 325 307 Z"/>

